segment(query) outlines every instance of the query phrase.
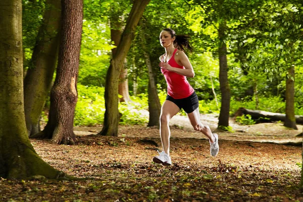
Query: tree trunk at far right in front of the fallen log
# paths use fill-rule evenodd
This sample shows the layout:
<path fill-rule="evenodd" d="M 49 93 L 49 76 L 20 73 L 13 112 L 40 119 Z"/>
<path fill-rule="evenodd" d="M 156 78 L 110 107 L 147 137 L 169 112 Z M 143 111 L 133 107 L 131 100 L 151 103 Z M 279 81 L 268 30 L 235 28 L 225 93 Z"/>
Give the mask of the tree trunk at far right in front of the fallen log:
<path fill-rule="evenodd" d="M 294 66 L 291 65 L 288 70 L 289 78 L 286 80 L 286 109 L 285 109 L 285 122 L 284 126 L 288 128 L 293 128 L 297 130 L 298 128 L 295 125 L 295 115 L 294 115 Z M 292 77 L 292 78 L 291 78 Z"/>

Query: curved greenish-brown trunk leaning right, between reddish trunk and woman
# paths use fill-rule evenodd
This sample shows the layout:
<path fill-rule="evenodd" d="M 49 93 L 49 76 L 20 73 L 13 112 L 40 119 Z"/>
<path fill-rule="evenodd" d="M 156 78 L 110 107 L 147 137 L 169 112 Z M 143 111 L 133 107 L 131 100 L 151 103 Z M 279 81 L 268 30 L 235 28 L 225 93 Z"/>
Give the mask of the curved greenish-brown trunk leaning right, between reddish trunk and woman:
<path fill-rule="evenodd" d="M 120 43 L 117 47 L 117 52 L 111 60 L 111 65 L 108 69 L 106 86 L 105 86 L 105 115 L 104 125 L 100 135 L 118 135 L 118 85 L 119 76 L 124 63 L 124 59 L 129 51 L 131 41 L 134 38 L 135 28 L 143 15 L 143 11 L 150 0 L 136 0 L 133 3 L 131 12 L 126 22 Z"/>

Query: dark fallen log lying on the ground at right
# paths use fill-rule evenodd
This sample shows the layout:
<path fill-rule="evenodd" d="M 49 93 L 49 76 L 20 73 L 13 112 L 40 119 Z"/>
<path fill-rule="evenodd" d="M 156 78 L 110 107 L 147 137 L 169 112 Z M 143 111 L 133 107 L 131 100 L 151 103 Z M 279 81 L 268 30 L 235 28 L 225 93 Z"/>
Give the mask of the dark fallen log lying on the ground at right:
<path fill-rule="evenodd" d="M 245 108 L 239 108 L 234 117 L 250 115 L 251 119 L 256 120 L 257 123 L 268 123 L 274 121 L 285 121 L 285 114 L 272 113 L 260 110 L 248 110 Z M 297 124 L 303 124 L 303 116 L 295 116 L 295 122 Z"/>

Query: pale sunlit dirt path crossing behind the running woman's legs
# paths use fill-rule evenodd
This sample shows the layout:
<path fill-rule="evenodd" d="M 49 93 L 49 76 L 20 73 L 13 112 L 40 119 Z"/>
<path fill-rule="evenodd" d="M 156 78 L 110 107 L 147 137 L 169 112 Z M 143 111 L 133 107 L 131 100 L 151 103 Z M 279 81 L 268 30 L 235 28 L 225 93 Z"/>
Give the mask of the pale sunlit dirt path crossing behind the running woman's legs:
<path fill-rule="evenodd" d="M 216 131 L 218 127 L 218 115 L 201 114 L 201 121 L 211 127 L 212 131 Z M 262 123 L 255 125 L 239 125 L 233 119 L 230 119 L 230 126 L 233 132 L 219 133 L 220 139 L 237 140 L 237 141 L 255 141 L 255 142 L 273 142 L 273 143 L 299 143 L 302 137 L 296 137 L 302 131 L 302 125 L 297 125 L 298 130 L 288 129 L 283 123 Z M 171 138 L 197 138 L 206 139 L 206 136 L 192 129 L 190 122 L 186 116 L 176 115 L 170 122 Z M 99 127 L 75 127 L 76 135 L 95 134 L 102 129 Z M 140 131 L 138 133 L 137 131 Z M 127 137 L 159 137 L 159 128 L 146 126 L 120 126 L 119 136 Z"/>

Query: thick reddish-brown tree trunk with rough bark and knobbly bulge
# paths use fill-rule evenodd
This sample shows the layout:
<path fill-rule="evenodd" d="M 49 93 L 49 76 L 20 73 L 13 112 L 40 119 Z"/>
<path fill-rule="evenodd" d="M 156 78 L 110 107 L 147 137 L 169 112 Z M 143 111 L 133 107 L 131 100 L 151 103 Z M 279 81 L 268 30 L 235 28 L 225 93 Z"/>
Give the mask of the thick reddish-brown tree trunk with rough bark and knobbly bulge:
<path fill-rule="evenodd" d="M 57 144 L 74 144 L 74 112 L 78 99 L 77 78 L 82 32 L 82 0 L 62 1 L 62 25 L 56 80 L 51 108 L 43 131 L 33 137 L 52 138 Z"/>

